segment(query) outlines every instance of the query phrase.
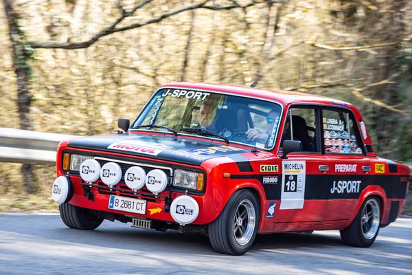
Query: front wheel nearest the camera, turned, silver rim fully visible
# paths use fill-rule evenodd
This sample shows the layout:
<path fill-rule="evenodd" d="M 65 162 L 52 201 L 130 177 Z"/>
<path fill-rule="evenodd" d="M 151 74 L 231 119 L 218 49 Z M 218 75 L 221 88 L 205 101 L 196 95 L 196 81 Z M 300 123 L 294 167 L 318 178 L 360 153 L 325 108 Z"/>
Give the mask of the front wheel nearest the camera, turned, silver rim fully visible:
<path fill-rule="evenodd" d="M 219 217 L 209 223 L 211 246 L 223 254 L 244 254 L 255 241 L 259 219 L 260 206 L 253 193 L 246 189 L 236 191 Z"/>

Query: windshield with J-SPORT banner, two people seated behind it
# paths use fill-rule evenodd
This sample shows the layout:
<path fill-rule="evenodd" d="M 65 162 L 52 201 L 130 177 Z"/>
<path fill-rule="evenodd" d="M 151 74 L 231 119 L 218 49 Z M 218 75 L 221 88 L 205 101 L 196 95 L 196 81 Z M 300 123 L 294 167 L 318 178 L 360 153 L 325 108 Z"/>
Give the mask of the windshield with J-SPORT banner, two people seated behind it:
<path fill-rule="evenodd" d="M 152 131 L 208 136 L 273 148 L 282 108 L 279 104 L 253 98 L 229 96 L 212 91 L 161 89 L 141 112 L 132 129 L 140 125 Z M 209 134 L 208 134 L 209 133 Z M 214 134 L 214 135 L 212 135 Z"/>

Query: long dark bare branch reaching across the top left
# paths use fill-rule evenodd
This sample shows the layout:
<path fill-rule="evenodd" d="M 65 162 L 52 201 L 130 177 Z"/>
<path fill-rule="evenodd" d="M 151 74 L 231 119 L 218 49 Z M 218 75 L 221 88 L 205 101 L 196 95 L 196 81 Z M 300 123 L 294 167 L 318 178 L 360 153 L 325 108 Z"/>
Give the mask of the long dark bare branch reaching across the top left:
<path fill-rule="evenodd" d="M 205 0 L 201 3 L 196 3 L 193 5 L 189 5 L 186 7 L 182 7 L 182 8 L 178 8 L 176 10 L 172 10 L 170 12 L 166 12 L 165 14 L 161 14 L 161 16 L 159 17 L 155 17 L 152 18 L 150 20 L 146 20 L 146 21 L 141 21 L 139 23 L 135 23 L 135 24 L 131 24 L 131 25 L 127 25 L 125 27 L 122 28 L 116 28 L 116 26 L 122 22 L 126 17 L 130 17 L 134 14 L 134 12 L 136 12 L 136 10 L 138 10 L 139 8 L 142 8 L 144 5 L 152 2 L 153 0 L 145 0 L 142 1 L 141 3 L 135 5 L 135 7 L 130 10 L 129 12 L 124 10 L 124 7 L 122 6 L 122 4 L 120 2 L 117 2 L 117 8 L 119 8 L 119 10 L 122 12 L 122 16 L 119 17 L 116 21 L 114 21 L 113 23 L 111 23 L 111 25 L 109 25 L 108 27 L 104 28 L 103 30 L 101 30 L 100 32 L 98 32 L 97 34 L 95 34 L 91 39 L 89 39 L 88 41 L 82 41 L 82 42 L 76 42 L 76 43 L 70 43 L 70 39 L 65 42 L 65 43 L 60 43 L 60 42 L 56 42 L 56 41 L 28 41 L 28 43 L 33 47 L 33 48 L 44 48 L 44 49 L 66 49 L 66 50 L 75 50 L 75 49 L 83 49 L 86 47 L 90 47 L 93 43 L 95 43 L 96 41 L 98 41 L 101 37 L 106 36 L 108 34 L 113 34 L 115 32 L 124 32 L 126 30 L 132 30 L 132 29 L 136 29 L 136 28 L 141 28 L 145 25 L 150 25 L 153 23 L 158 23 L 160 21 L 162 21 L 163 19 L 167 19 L 168 17 L 172 17 L 173 15 L 179 14 L 181 12 L 186 12 L 189 10 L 195 10 L 198 8 L 205 8 L 208 10 L 231 10 L 234 8 L 248 8 L 251 7 L 252 5 L 256 5 L 258 3 L 277 3 L 277 1 L 271 1 L 271 0 L 263 0 L 263 1 L 251 1 L 251 3 L 247 4 L 247 5 L 206 5 L 209 0 Z M 233 1 L 232 1 L 233 2 Z"/>

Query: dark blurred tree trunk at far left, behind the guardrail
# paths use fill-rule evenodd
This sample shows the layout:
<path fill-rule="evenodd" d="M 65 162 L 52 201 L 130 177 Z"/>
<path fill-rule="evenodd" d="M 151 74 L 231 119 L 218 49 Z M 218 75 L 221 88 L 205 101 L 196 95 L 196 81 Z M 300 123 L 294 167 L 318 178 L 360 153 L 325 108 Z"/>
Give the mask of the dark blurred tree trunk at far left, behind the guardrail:
<path fill-rule="evenodd" d="M 32 118 L 30 115 L 30 103 L 32 94 L 29 91 L 30 67 L 27 59 L 30 52 L 25 47 L 25 37 L 19 28 L 19 14 L 14 11 L 11 0 L 3 0 L 5 16 L 8 21 L 10 41 L 13 47 L 13 67 L 16 74 L 17 84 L 17 107 L 19 111 L 20 128 L 32 130 Z M 33 168 L 28 164 L 23 164 L 21 172 L 24 175 L 26 189 L 28 192 L 34 190 Z"/>

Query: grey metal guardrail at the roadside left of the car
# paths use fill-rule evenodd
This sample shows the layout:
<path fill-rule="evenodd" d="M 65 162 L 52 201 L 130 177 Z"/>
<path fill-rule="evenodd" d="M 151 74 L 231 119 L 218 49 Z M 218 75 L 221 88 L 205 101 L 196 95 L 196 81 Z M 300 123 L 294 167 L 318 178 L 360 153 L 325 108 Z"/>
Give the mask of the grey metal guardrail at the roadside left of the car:
<path fill-rule="evenodd" d="M 80 136 L 0 128 L 0 162 L 55 164 L 59 142 L 75 137 Z"/>

